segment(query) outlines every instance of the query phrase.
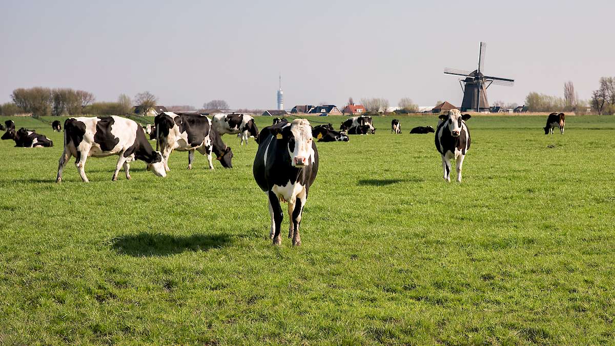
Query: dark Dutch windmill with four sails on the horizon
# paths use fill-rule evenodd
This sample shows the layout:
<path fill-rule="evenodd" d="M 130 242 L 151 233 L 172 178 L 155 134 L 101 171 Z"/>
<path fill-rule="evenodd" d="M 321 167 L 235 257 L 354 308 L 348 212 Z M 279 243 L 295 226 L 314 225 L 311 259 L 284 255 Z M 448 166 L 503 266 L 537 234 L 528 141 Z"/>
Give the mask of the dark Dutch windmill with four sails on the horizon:
<path fill-rule="evenodd" d="M 464 76 L 464 79 L 459 79 L 459 85 L 463 91 L 463 101 L 461 102 L 461 111 L 467 110 L 489 110 L 489 102 L 487 100 L 487 88 L 491 84 L 500 86 L 513 86 L 515 80 L 500 77 L 485 76 L 483 74 L 483 66 L 485 66 L 485 51 L 487 44 L 480 42 L 480 50 L 478 52 L 478 70 L 464 71 L 455 70 L 453 68 L 445 68 L 445 74 L 453 76 Z M 461 84 L 463 82 L 463 84 Z"/>

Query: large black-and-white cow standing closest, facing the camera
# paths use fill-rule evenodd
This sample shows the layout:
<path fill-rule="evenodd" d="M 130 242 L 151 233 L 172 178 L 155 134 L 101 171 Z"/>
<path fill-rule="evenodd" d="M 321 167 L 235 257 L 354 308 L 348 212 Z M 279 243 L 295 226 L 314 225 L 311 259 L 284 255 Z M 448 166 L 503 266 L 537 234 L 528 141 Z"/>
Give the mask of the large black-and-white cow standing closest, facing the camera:
<path fill-rule="evenodd" d="M 280 201 L 288 203 L 288 238 L 301 244 L 299 226 L 309 188 L 318 172 L 318 151 L 306 119 L 265 127 L 260 133 L 253 173 L 258 186 L 267 193 L 273 243 L 282 243 L 280 225 L 284 213 Z"/>

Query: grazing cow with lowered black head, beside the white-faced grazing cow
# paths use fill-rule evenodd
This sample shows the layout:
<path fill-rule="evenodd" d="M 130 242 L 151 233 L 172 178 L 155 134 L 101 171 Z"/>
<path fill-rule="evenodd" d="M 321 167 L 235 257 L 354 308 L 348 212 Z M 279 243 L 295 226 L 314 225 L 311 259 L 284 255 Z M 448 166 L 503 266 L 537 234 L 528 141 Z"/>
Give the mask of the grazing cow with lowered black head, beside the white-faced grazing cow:
<path fill-rule="evenodd" d="M 209 168 L 213 169 L 212 152 L 225 168 L 232 168 L 232 150 L 222 142 L 220 135 L 212 131 L 212 120 L 195 113 L 162 112 L 154 118 L 156 124 L 156 147 L 162 151 L 165 170 L 169 169 L 169 156 L 173 150 L 188 151 L 188 169 L 192 169 L 194 150 L 207 155 Z"/>

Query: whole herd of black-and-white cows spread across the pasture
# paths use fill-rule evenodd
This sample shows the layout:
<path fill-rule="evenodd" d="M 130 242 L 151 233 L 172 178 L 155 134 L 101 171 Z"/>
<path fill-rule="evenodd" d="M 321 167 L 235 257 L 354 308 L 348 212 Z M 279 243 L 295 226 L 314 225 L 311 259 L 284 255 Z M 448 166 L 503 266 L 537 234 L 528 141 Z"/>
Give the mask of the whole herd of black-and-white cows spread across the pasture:
<path fill-rule="evenodd" d="M 437 128 L 419 126 L 411 134 L 435 132 L 435 147 L 442 156 L 443 177 L 450 182 L 451 159 L 456 161 L 457 181 L 461 182 L 464 158 L 470 149 L 470 132 L 466 121 L 470 115 L 462 115 L 459 110 L 450 110 L 440 115 Z M 12 139 L 15 147 L 53 147 L 54 143 L 42 134 L 20 128 L 15 131 L 12 120 L 5 122 L 6 129 L 2 139 Z M 552 134 L 560 127 L 564 133 L 565 115 L 551 113 L 544 127 L 545 134 Z M 59 121 L 52 123 L 54 131 L 62 131 Z M 391 121 L 391 132 L 402 133 L 398 119 Z M 280 225 L 284 214 L 280 202 L 288 203 L 290 225 L 288 238 L 293 245 L 301 244 L 299 233 L 301 214 L 308 199 L 309 188 L 316 178 L 319 166 L 318 142 L 348 142 L 350 134 L 375 134 L 370 116 L 355 116 L 344 121 L 339 131 L 331 124 L 312 127 L 306 119 L 275 118 L 272 126 L 260 132 L 252 116 L 242 114 L 216 114 L 212 118 L 198 113 L 164 112 L 154 118 L 153 126 L 138 125 L 135 121 L 120 116 L 68 118 L 64 123 L 64 150 L 58 161 L 57 182 L 62 182 L 62 172 L 68 160 L 74 156 L 75 165 L 84 182 L 85 161 L 90 156 L 99 158 L 119 156 L 112 180 L 124 168 L 130 179 L 130 163 L 144 161 L 148 171 L 165 177 L 169 168 L 169 156 L 173 150 L 188 151 L 188 169 L 192 168 L 194 151 L 207 156 L 208 166 L 213 169 L 212 159 L 225 168 L 232 168 L 233 152 L 222 140 L 224 134 L 237 134 L 240 145 L 247 145 L 253 137 L 258 150 L 253 164 L 253 175 L 258 186 L 267 194 L 269 215 L 271 217 L 270 236 L 274 244 L 281 243 Z M 156 140 L 156 150 L 149 138 Z"/>

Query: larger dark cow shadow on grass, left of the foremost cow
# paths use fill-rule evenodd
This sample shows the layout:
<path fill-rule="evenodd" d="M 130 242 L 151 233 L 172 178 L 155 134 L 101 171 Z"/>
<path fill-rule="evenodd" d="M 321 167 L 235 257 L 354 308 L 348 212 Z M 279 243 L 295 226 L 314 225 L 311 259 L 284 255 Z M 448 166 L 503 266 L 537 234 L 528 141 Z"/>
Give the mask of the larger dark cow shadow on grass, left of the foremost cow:
<path fill-rule="evenodd" d="M 160 257 L 184 251 L 208 251 L 231 243 L 226 233 L 218 235 L 172 236 L 162 233 L 139 233 L 118 236 L 109 241 L 118 253 L 135 257 Z"/>

